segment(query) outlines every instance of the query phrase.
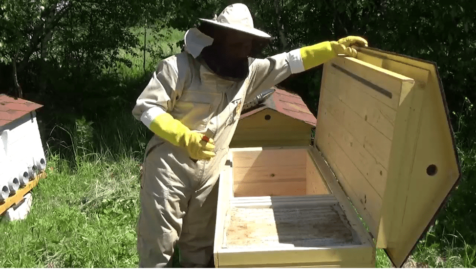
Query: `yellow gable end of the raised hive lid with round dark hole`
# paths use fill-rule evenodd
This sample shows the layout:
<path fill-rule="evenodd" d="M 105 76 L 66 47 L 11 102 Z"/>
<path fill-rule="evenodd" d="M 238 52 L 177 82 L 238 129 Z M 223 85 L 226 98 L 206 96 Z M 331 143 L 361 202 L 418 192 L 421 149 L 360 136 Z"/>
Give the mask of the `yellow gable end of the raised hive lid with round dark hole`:
<path fill-rule="evenodd" d="M 441 95 L 435 86 L 432 74 L 421 97 L 417 135 L 409 137 L 415 140 L 413 153 L 408 152 L 412 154 L 408 156 L 411 161 L 401 168 L 408 175 L 401 178 L 398 196 L 393 201 L 394 211 L 389 211 L 388 218 L 383 219 L 394 223 L 388 254 L 397 265 L 404 262 L 459 176 L 453 145 L 449 142 L 446 113 L 443 106 L 437 105 L 441 103 Z M 432 165 L 436 167 L 434 175 Z"/>

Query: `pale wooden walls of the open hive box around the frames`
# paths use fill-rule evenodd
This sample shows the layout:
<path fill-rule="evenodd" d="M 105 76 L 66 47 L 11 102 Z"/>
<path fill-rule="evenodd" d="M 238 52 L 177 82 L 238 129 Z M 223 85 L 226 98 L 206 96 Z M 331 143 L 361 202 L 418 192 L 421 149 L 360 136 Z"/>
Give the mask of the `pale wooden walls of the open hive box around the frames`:
<path fill-rule="evenodd" d="M 288 196 L 254 196 L 246 197 L 244 193 L 241 197 L 235 197 L 234 184 L 241 183 L 242 180 L 234 182 L 235 169 L 238 171 L 243 168 L 246 163 L 256 164 L 260 167 L 258 170 L 252 170 L 248 178 L 258 180 L 263 178 L 263 170 L 268 172 L 279 171 L 283 169 L 282 161 L 284 158 L 277 157 L 279 155 L 294 157 L 295 163 L 290 163 L 288 167 L 292 167 L 296 162 L 302 161 L 306 166 L 301 166 L 300 175 L 307 175 L 312 184 L 304 183 L 299 186 L 309 186 L 310 191 L 304 190 L 301 195 L 295 195 L 291 191 Z M 268 156 L 274 158 L 268 158 Z M 275 170 L 278 169 L 278 170 Z M 236 172 L 236 171 L 235 171 Z M 255 174 L 256 173 L 256 174 Z M 322 184 L 316 184 L 321 179 Z M 261 181 L 261 183 L 266 183 Z M 276 182 L 274 182 L 276 183 Z M 279 184 L 279 183 L 278 183 Z M 282 186 L 289 187 L 285 181 L 281 182 Z M 277 188 L 276 185 L 270 185 Z M 269 190 L 269 189 L 268 189 Z M 271 190 L 273 191 L 273 190 Z M 317 194 L 312 194 L 316 192 Z M 283 194 L 281 191 L 279 194 Z M 307 194 L 307 195 L 306 195 Z M 319 207 L 322 205 L 338 206 L 352 228 L 354 235 L 360 241 L 360 244 L 349 244 L 336 246 L 320 246 L 320 247 L 294 247 L 294 246 L 277 246 L 277 247 L 230 247 L 227 246 L 226 227 L 229 223 L 230 212 L 235 208 L 273 208 L 274 211 L 280 208 L 309 208 Z M 270 148 L 241 148 L 231 149 L 229 154 L 229 162 L 220 175 L 218 207 L 216 222 L 216 238 L 215 238 L 215 264 L 217 267 L 374 267 L 375 265 L 375 245 L 366 232 L 362 222 L 357 216 L 355 210 L 352 209 L 348 199 L 340 189 L 338 182 L 333 177 L 329 167 L 325 164 L 324 159 L 318 154 L 318 151 L 311 147 L 270 147 Z M 264 231 L 264 230 L 263 230 Z M 279 236 L 279 235 L 278 235 Z"/>

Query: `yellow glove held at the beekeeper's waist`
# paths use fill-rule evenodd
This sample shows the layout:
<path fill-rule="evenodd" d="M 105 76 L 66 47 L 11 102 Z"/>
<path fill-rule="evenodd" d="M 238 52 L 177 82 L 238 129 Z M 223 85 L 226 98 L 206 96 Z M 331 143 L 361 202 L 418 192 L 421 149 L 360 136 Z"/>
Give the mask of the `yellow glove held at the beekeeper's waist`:
<path fill-rule="evenodd" d="M 171 142 L 175 146 L 187 150 L 193 159 L 210 159 L 215 157 L 213 139 L 202 140 L 203 134 L 190 131 L 169 113 L 162 113 L 154 118 L 150 129 L 155 134 Z"/>

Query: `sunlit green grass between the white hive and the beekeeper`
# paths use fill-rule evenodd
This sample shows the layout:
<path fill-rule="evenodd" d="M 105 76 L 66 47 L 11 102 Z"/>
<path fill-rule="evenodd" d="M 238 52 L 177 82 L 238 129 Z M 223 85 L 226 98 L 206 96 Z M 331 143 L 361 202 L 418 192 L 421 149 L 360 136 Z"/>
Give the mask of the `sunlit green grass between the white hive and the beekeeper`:
<path fill-rule="evenodd" d="M 2 268 L 136 267 L 137 160 L 48 158 L 28 218 L 0 225 Z"/>

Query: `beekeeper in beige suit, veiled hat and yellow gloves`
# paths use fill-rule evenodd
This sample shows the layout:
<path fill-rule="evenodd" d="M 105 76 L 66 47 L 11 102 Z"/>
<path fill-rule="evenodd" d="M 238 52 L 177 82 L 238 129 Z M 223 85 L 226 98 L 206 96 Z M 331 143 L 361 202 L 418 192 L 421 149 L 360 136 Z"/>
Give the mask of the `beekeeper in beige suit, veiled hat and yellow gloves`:
<path fill-rule="evenodd" d="M 137 224 L 139 267 L 212 268 L 217 179 L 243 103 L 293 73 L 338 54 L 355 57 L 360 37 L 322 42 L 265 59 L 271 37 L 244 4 L 185 33 L 182 53 L 161 60 L 132 111 L 155 135 L 146 147 Z M 206 134 L 206 135 L 205 135 Z"/>

